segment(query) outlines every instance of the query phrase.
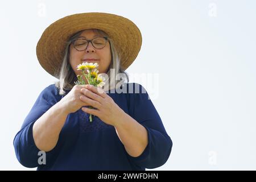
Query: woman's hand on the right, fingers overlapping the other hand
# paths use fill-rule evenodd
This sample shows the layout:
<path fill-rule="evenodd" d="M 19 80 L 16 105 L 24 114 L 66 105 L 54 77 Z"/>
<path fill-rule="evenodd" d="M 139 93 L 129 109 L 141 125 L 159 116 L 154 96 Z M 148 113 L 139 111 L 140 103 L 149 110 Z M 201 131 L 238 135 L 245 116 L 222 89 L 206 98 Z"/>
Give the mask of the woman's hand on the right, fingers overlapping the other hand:
<path fill-rule="evenodd" d="M 82 111 L 96 115 L 108 125 L 115 126 L 118 122 L 118 118 L 125 114 L 125 111 L 115 104 L 114 100 L 101 88 L 93 85 L 86 85 L 85 88 L 81 89 L 81 93 L 85 96 L 81 96 L 80 99 L 96 108 L 89 109 L 87 107 L 82 107 Z"/>

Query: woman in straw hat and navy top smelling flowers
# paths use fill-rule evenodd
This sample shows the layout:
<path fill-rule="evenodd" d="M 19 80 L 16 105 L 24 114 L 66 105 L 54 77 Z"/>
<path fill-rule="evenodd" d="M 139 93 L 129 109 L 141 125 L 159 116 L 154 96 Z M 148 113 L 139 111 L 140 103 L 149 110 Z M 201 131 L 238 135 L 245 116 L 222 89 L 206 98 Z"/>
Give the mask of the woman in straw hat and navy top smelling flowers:
<path fill-rule="evenodd" d="M 166 163 L 172 141 L 146 90 L 115 80 L 120 74 L 128 80 L 125 69 L 141 44 L 138 27 L 114 14 L 75 14 L 52 23 L 36 54 L 59 81 L 40 93 L 14 138 L 19 162 L 38 170 L 145 170 Z M 98 73 L 109 76 L 104 89 L 75 84 L 83 62 L 98 63 Z"/>

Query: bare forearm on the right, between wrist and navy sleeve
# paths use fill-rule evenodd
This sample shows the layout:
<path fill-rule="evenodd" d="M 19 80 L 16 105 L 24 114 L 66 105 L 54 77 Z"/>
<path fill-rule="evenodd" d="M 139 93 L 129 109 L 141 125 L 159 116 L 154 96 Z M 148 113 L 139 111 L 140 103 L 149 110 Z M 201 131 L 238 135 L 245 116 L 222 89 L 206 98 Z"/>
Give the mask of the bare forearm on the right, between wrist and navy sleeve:
<path fill-rule="evenodd" d="M 114 127 L 127 153 L 133 157 L 141 155 L 148 144 L 144 126 L 124 112 Z"/>

